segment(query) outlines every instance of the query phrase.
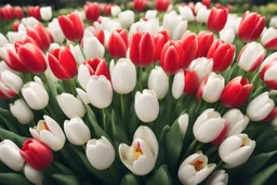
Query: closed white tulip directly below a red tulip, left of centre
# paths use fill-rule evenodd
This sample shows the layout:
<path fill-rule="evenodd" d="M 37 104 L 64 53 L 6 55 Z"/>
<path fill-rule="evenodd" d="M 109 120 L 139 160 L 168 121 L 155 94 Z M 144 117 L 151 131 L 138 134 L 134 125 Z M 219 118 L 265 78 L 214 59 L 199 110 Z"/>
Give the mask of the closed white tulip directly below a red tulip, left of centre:
<path fill-rule="evenodd" d="M 105 76 L 92 76 L 87 84 L 91 104 L 97 108 L 106 108 L 113 101 L 113 88 Z"/>

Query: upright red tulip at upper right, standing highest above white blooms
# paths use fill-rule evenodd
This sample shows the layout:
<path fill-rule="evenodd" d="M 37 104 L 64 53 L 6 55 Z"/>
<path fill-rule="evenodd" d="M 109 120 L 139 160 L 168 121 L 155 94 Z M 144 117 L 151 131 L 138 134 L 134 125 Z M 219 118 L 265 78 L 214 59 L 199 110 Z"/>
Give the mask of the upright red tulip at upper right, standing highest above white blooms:
<path fill-rule="evenodd" d="M 224 6 L 212 8 L 207 22 L 209 30 L 213 32 L 221 31 L 227 22 L 227 16 L 228 9 Z"/>

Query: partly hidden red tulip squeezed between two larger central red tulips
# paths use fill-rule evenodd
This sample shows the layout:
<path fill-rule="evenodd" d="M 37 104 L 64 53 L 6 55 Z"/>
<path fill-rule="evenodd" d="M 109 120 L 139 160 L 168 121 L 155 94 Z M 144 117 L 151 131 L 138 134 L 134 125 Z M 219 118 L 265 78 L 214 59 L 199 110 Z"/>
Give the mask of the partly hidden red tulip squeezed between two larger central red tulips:
<path fill-rule="evenodd" d="M 159 31 L 155 37 L 154 37 L 154 43 L 156 47 L 156 53 L 154 61 L 158 62 L 160 61 L 160 54 L 163 45 L 170 40 L 170 35 L 167 30 L 161 30 Z"/>

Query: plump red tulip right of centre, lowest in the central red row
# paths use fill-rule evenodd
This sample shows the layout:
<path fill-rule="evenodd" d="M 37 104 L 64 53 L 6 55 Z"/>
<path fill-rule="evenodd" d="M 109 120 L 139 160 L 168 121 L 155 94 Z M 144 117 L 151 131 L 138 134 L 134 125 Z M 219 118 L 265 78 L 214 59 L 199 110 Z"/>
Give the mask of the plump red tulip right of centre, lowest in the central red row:
<path fill-rule="evenodd" d="M 160 65 L 170 75 L 184 68 L 184 50 L 181 41 L 168 41 L 164 44 L 160 55 Z"/>

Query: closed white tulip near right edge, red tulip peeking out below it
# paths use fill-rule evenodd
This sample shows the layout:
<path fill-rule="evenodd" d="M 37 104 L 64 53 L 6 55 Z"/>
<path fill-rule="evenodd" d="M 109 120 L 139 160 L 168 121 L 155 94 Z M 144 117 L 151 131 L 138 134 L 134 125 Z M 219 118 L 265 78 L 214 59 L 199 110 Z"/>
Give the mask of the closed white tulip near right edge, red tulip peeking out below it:
<path fill-rule="evenodd" d="M 268 92 L 264 92 L 249 103 L 247 116 L 252 121 L 261 121 L 265 119 L 273 109 L 274 101 L 269 98 Z"/>

